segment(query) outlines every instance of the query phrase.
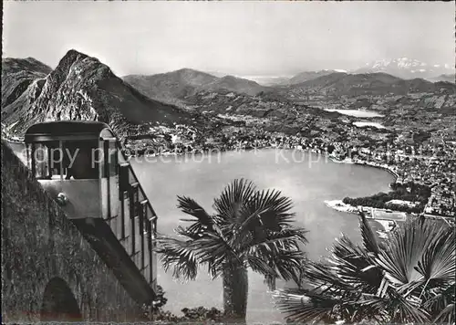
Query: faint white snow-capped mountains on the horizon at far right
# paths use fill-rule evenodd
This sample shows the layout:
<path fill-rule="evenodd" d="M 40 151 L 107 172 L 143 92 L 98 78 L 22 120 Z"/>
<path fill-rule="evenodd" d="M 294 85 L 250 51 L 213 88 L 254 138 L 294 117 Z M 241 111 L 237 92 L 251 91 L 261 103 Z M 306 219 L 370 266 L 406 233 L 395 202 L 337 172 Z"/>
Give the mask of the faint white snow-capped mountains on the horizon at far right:
<path fill-rule="evenodd" d="M 434 79 L 444 74 L 453 74 L 450 64 L 429 64 L 414 58 L 381 59 L 366 63 L 352 73 L 384 72 L 402 79 Z"/>

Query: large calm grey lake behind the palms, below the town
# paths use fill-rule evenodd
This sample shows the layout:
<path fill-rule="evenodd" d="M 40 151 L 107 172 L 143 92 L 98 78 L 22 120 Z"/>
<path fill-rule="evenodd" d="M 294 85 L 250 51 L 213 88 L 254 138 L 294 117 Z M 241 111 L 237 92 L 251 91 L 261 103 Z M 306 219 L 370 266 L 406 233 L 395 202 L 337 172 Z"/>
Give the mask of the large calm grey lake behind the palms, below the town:
<path fill-rule="evenodd" d="M 148 160 L 133 160 L 131 165 L 159 215 L 161 233 L 173 234 L 173 228 L 185 217 L 176 207 L 176 195 L 190 196 L 212 211 L 212 199 L 222 193 L 223 187 L 235 178 L 244 177 L 259 188 L 275 188 L 292 198 L 296 223 L 309 231 L 306 253 L 312 259 L 326 256 L 326 248 L 330 248 L 341 233 L 357 241 L 360 239 L 358 216 L 333 210 L 326 206 L 325 200 L 388 192 L 389 183 L 394 181 L 391 174 L 380 169 L 332 163 L 316 153 L 274 149 Z M 247 321 L 283 321 L 263 280 L 249 273 Z M 184 307 L 223 309 L 222 281 L 212 281 L 204 271 L 195 281 L 181 283 L 173 280 L 171 271 L 165 273 L 159 266 L 158 283 L 168 298 L 165 309 L 175 314 L 181 315 Z M 284 286 L 283 282 L 277 283 L 277 288 Z"/>

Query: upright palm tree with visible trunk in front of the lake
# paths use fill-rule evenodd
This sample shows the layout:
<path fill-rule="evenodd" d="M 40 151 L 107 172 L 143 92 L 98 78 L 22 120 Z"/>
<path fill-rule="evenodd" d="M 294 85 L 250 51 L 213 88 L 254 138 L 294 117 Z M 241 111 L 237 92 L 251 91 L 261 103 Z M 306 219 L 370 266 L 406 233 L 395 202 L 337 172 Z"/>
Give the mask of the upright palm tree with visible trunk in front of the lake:
<path fill-rule="evenodd" d="M 224 311 L 233 320 L 244 320 L 247 308 L 247 269 L 275 278 L 295 278 L 306 244 L 306 231 L 292 225 L 291 200 L 275 190 L 258 191 L 254 183 L 235 180 L 213 202 L 207 213 L 186 196 L 178 207 L 192 225 L 175 229 L 181 238 L 158 236 L 158 249 L 165 270 L 173 267 L 175 278 L 194 279 L 200 266 L 212 278 L 223 277 Z"/>

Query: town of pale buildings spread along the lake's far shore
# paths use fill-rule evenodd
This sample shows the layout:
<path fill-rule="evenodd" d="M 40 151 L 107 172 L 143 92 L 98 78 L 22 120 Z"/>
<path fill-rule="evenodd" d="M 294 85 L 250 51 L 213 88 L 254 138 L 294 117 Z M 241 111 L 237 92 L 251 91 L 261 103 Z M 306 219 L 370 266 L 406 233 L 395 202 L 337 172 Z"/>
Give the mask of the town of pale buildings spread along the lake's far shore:
<path fill-rule="evenodd" d="M 212 99 L 212 100 L 216 100 Z M 245 105 L 245 103 L 243 104 Z M 230 108 L 228 106 L 227 108 Z M 147 132 L 150 139 L 140 140 L 137 146 L 154 149 L 154 153 L 206 152 L 249 150 L 253 148 L 288 148 L 331 153 L 339 162 L 368 164 L 384 168 L 396 176 L 398 183 L 420 183 L 431 188 L 430 201 L 425 212 L 431 215 L 456 215 L 456 142 L 452 141 L 452 120 L 439 119 L 428 112 L 429 131 L 424 140 L 420 139 L 424 128 L 410 127 L 397 116 L 397 123 L 388 129 L 375 127 L 359 128 L 353 124 L 356 118 L 337 115 L 317 115 L 316 110 L 299 110 L 293 107 L 298 118 L 288 125 L 300 125 L 300 131 L 280 129 L 285 117 L 257 117 L 238 111 L 211 111 L 217 127 L 205 131 L 185 125 L 172 128 L 151 127 Z M 230 109 L 231 110 L 231 109 Z M 277 109 L 275 114 L 280 113 Z M 285 110 L 285 108 L 284 108 Z M 291 110 L 291 109 L 288 109 Z M 434 122 L 437 121 L 437 122 Z M 455 120 L 456 122 L 456 120 Z M 402 124 L 402 126 L 400 126 Z M 412 124 L 412 123 L 411 123 Z M 418 134 L 418 135 L 417 135 Z M 418 138 L 417 138 L 418 137 Z M 418 140 L 419 141 L 418 141 Z M 134 141 L 129 140 L 127 147 Z"/>

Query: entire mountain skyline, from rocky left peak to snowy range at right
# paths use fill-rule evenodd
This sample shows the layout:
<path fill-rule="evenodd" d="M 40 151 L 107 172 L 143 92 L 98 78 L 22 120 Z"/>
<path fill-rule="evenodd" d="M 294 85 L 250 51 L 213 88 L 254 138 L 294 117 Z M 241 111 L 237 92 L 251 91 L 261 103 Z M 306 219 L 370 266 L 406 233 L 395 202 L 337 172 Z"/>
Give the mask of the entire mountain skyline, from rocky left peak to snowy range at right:
<path fill-rule="evenodd" d="M 150 123 L 206 125 L 208 118 L 192 107 L 201 102 L 206 105 L 213 93 L 222 93 L 227 100 L 236 100 L 236 94 L 242 94 L 245 106 L 242 110 L 248 109 L 248 97 L 258 103 L 272 99 L 285 105 L 287 100 L 306 101 L 308 96 L 325 99 L 421 92 L 444 97 L 456 93 L 456 85 L 451 83 L 453 74 L 437 75 L 440 77 L 431 82 L 372 71 L 396 69 L 415 73 L 411 71 L 425 67 L 417 61 L 410 62 L 385 61 L 359 69 L 362 73 L 307 71 L 279 80 L 275 87 L 265 87 L 253 80 L 217 77 L 190 68 L 120 79 L 97 58 L 76 50 L 69 50 L 55 69 L 34 58 L 5 58 L 2 59 L 2 128 L 9 134 L 22 135 L 28 126 L 39 121 L 97 120 L 109 123 L 123 136 Z M 430 70 L 438 71 L 435 67 Z M 274 110 L 273 106 L 268 110 Z"/>

